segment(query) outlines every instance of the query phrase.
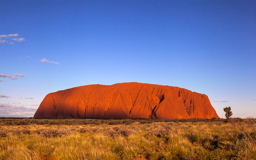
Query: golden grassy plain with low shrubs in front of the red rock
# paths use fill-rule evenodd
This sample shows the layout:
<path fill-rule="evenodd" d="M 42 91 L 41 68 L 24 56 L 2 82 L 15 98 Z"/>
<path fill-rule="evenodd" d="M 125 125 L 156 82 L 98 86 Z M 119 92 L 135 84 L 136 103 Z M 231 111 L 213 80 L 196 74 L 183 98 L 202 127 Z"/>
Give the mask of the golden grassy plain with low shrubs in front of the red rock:
<path fill-rule="evenodd" d="M 20 125 L 20 121 L 24 121 L 24 125 Z M 256 120 L 231 118 L 229 123 L 200 119 L 196 122 L 0 120 L 0 160 L 44 157 L 56 160 L 255 160 Z"/>

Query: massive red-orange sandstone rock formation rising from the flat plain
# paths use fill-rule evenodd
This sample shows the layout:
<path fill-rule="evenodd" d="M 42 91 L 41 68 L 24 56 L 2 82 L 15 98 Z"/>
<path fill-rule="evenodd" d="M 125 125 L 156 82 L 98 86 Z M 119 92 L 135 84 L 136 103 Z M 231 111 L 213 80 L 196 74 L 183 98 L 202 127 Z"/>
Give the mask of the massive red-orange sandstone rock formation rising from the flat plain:
<path fill-rule="evenodd" d="M 85 85 L 49 93 L 34 118 L 219 118 L 205 94 L 142 83 Z"/>

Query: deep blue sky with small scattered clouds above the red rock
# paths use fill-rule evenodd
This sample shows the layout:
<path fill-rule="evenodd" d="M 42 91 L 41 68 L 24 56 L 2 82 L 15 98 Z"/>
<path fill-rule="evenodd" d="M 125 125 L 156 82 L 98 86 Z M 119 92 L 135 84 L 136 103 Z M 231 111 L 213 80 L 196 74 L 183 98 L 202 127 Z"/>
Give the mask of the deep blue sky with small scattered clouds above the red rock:
<path fill-rule="evenodd" d="M 0 1 L 0 116 L 45 95 L 140 82 L 256 117 L 256 1 Z"/>

